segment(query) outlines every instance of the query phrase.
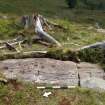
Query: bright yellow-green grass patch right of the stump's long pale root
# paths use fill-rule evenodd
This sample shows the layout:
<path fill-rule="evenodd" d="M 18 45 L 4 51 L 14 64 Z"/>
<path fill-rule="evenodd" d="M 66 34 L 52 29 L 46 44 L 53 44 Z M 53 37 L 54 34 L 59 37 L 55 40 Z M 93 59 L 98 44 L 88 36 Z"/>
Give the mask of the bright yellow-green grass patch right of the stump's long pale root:
<path fill-rule="evenodd" d="M 67 28 L 66 31 L 56 30 L 51 33 L 64 47 L 78 48 L 105 39 L 104 33 L 98 33 L 95 25 L 60 19 L 55 20 L 55 22 Z M 90 27 L 92 29 L 89 29 Z"/>

